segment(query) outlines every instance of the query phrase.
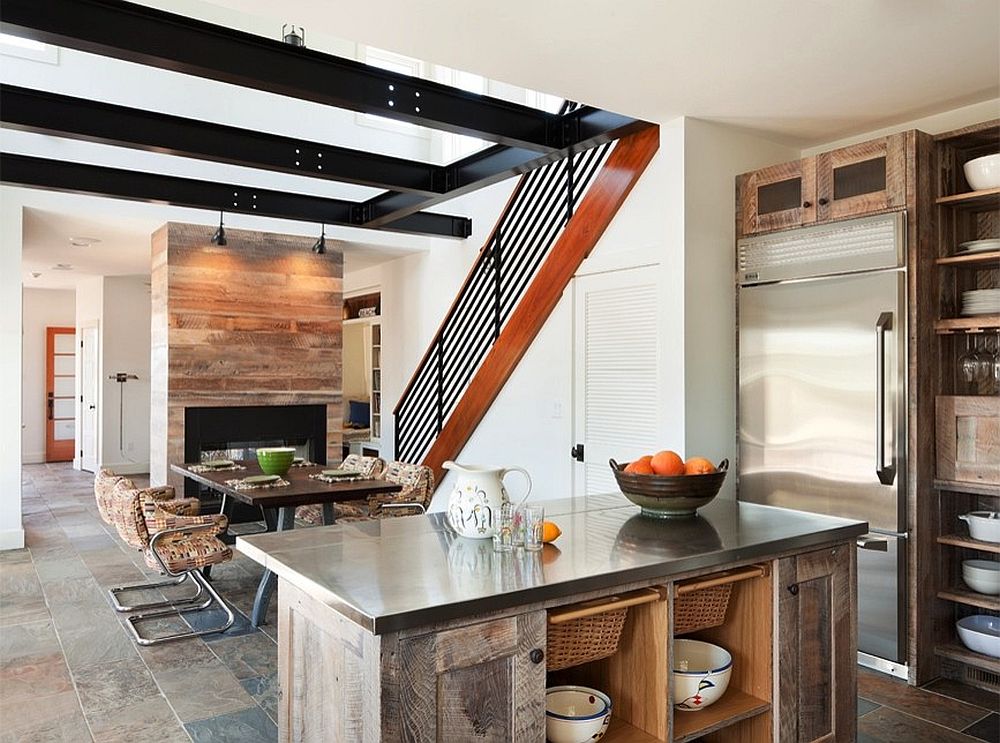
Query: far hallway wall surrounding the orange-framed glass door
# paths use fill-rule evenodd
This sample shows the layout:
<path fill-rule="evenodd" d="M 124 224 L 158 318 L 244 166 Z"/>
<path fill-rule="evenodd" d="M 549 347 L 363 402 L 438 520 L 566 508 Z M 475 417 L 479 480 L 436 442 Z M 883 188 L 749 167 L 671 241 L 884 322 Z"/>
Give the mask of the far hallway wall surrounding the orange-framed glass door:
<path fill-rule="evenodd" d="M 45 329 L 76 324 L 76 297 L 60 289 L 25 289 L 21 345 L 21 461 L 45 461 Z"/>

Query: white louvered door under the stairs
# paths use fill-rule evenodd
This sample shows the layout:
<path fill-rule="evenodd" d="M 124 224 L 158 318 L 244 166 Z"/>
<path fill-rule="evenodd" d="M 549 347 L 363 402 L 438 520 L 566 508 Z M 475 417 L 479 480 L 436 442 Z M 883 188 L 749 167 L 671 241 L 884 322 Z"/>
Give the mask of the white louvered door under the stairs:
<path fill-rule="evenodd" d="M 574 493 L 616 492 L 608 459 L 658 450 L 663 337 L 661 302 L 649 267 L 574 280 Z M 659 447 L 662 448 L 662 447 Z"/>

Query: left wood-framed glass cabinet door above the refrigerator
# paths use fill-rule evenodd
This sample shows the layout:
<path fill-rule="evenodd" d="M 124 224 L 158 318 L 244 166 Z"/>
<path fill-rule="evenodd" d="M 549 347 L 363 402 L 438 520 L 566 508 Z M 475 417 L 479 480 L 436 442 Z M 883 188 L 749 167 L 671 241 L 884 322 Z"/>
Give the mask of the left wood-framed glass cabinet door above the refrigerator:
<path fill-rule="evenodd" d="M 740 234 L 752 235 L 815 222 L 815 166 L 815 159 L 807 158 L 740 176 Z"/>

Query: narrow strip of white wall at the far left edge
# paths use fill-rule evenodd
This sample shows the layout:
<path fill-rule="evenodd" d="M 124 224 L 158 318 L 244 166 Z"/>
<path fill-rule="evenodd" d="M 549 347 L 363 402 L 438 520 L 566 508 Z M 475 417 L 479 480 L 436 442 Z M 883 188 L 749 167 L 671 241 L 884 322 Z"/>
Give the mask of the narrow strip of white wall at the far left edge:
<path fill-rule="evenodd" d="M 0 187 L 0 550 L 24 546 L 21 526 L 21 208 Z"/>

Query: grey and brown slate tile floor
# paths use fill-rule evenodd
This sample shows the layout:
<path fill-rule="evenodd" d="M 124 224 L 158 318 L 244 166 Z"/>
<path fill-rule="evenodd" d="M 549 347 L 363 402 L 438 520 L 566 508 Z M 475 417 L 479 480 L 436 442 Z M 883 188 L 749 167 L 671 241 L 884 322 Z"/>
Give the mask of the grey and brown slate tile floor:
<path fill-rule="evenodd" d="M 91 476 L 30 465 L 23 481 L 28 546 L 0 552 L 0 743 L 277 740 L 276 609 L 264 631 L 246 619 L 256 563 L 212 570 L 239 612 L 227 633 L 137 648 L 106 589 L 149 571 L 100 520 Z M 1000 743 L 996 694 L 867 670 L 858 690 L 859 743 Z"/>

